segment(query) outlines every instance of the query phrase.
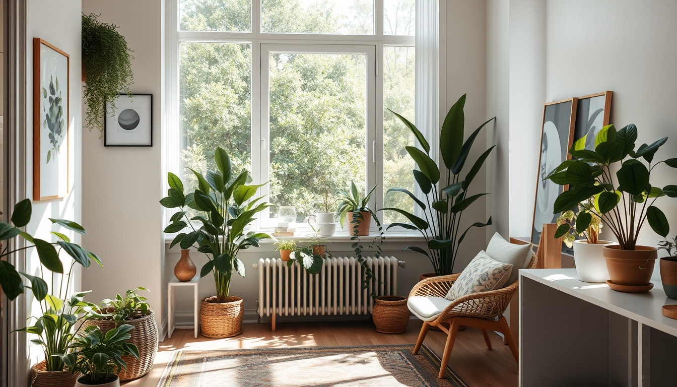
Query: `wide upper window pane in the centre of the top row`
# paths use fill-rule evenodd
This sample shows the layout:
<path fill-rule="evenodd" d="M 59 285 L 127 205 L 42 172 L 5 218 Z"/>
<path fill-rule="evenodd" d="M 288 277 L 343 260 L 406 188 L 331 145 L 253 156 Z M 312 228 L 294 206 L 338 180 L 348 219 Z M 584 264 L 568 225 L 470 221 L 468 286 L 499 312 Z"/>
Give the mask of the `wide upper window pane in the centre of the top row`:
<path fill-rule="evenodd" d="M 263 0 L 264 33 L 374 34 L 373 0 Z"/>

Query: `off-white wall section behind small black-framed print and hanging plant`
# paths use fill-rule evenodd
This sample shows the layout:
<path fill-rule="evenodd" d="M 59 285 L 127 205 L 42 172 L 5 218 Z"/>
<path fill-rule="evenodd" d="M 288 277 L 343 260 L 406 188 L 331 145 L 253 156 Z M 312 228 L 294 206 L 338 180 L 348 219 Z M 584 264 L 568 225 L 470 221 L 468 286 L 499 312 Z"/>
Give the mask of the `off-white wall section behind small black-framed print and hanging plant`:
<path fill-rule="evenodd" d="M 112 23 L 134 50 L 133 93 L 153 94 L 153 146 L 104 147 L 98 131 L 83 136 L 83 222 L 86 249 L 99 254 L 104 269 L 91 268 L 83 288 L 91 302 L 127 289 L 150 289 L 148 302 L 162 323 L 162 0 L 85 0 L 82 12 Z M 83 107 L 84 111 L 84 107 Z"/>

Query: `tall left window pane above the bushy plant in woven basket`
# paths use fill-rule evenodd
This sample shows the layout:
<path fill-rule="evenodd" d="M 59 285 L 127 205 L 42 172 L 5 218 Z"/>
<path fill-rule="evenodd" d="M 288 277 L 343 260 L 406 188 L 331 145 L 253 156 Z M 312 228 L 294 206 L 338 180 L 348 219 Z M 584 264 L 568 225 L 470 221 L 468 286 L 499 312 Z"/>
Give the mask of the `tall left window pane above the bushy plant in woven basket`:
<path fill-rule="evenodd" d="M 251 45 L 181 43 L 179 46 L 180 174 L 192 192 L 190 167 L 216 170 L 217 146 L 233 170 L 251 170 Z"/>

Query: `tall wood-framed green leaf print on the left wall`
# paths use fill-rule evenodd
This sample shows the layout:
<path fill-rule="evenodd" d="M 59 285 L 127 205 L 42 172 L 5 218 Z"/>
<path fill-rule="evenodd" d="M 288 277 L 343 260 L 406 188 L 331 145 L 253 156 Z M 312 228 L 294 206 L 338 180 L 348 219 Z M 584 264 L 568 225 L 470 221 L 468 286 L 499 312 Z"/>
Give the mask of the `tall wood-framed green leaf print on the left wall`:
<path fill-rule="evenodd" d="M 68 195 L 70 56 L 33 38 L 33 200 Z"/>

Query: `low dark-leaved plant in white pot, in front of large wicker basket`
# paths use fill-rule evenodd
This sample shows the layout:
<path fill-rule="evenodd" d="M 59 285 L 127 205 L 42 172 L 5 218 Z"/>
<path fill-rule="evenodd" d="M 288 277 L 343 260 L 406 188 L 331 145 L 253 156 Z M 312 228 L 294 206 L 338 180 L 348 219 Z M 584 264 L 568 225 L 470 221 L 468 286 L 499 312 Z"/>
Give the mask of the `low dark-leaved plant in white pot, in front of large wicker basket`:
<path fill-rule="evenodd" d="M 123 324 L 104 333 L 99 327 L 91 325 L 77 334 L 68 346 L 72 352 L 59 356 L 72 373 L 83 374 L 78 378 L 75 387 L 120 386 L 120 378 L 116 373 L 127 367 L 123 357 L 139 357 L 136 346 L 127 342 L 131 338 L 129 331 L 132 329 L 133 326 Z"/>

